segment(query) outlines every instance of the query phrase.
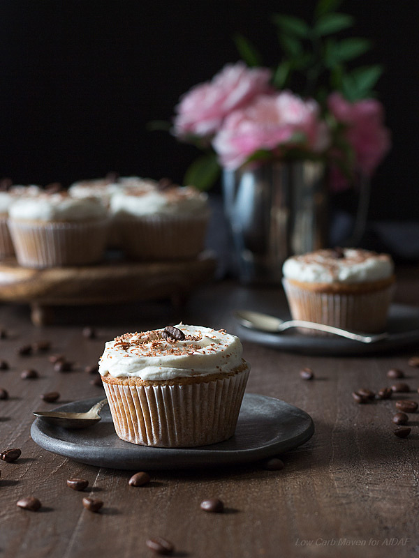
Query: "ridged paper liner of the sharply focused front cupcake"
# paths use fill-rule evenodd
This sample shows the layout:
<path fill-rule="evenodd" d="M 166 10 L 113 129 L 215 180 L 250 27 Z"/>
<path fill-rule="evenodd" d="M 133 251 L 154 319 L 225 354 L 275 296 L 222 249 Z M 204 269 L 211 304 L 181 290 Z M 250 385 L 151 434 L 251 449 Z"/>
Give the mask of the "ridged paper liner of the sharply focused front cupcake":
<path fill-rule="evenodd" d="M 103 381 L 119 438 L 164 448 L 205 446 L 233 436 L 249 368 L 193 384 L 135 386 Z"/>

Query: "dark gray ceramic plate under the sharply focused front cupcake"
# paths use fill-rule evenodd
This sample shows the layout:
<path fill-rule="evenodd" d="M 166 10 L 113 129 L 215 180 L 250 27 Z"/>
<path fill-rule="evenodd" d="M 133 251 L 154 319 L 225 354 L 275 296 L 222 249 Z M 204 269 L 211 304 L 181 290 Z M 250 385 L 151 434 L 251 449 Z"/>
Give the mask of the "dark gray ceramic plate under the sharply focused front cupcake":
<path fill-rule="evenodd" d="M 54 410 L 87 411 L 99 398 L 75 401 Z M 311 417 L 288 403 L 257 393 L 244 395 L 235 435 L 199 448 L 149 448 L 123 442 L 115 434 L 109 407 L 86 430 L 65 430 L 36 418 L 34 442 L 75 461 L 115 469 L 180 469 L 244 463 L 283 453 L 304 444 L 314 432 Z"/>

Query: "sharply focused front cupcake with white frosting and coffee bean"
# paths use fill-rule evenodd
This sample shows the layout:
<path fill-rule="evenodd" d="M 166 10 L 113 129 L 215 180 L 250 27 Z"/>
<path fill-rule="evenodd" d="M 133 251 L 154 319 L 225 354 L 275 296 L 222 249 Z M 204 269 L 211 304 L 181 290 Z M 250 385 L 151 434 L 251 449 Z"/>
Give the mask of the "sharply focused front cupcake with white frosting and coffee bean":
<path fill-rule="evenodd" d="M 235 335 L 184 324 L 125 333 L 99 361 L 119 438 L 166 448 L 233 436 L 249 370 Z"/>

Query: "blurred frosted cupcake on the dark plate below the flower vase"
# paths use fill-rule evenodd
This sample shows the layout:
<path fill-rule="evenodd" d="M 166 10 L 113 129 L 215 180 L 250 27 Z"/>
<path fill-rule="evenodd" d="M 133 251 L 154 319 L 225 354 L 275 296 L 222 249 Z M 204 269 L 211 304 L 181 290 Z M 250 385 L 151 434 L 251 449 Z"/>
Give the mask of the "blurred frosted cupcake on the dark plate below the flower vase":
<path fill-rule="evenodd" d="M 317 250 L 288 258 L 282 271 L 293 319 L 365 333 L 385 329 L 395 283 L 389 255 Z"/>

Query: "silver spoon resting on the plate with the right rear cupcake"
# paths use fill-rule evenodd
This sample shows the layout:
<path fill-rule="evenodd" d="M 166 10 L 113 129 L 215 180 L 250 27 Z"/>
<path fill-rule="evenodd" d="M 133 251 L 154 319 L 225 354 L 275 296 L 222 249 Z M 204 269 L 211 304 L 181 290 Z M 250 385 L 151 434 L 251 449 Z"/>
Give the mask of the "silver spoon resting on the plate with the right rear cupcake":
<path fill-rule="evenodd" d="M 315 329 L 316 331 L 324 331 L 325 333 L 333 333 L 348 339 L 360 341 L 362 343 L 374 343 L 388 338 L 388 333 L 376 333 L 374 335 L 362 335 L 360 333 L 353 333 L 346 331 L 346 329 L 339 329 L 333 326 L 326 326 L 324 324 L 316 324 L 314 322 L 304 322 L 301 319 L 290 319 L 288 322 L 274 316 L 268 316 L 260 312 L 252 312 L 251 310 L 235 310 L 233 312 L 237 322 L 249 329 L 258 329 L 259 331 L 266 331 L 267 333 L 281 333 L 286 329 L 292 327 L 304 327 L 306 329 Z"/>

